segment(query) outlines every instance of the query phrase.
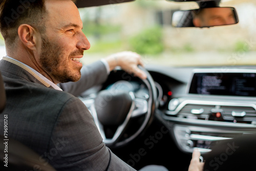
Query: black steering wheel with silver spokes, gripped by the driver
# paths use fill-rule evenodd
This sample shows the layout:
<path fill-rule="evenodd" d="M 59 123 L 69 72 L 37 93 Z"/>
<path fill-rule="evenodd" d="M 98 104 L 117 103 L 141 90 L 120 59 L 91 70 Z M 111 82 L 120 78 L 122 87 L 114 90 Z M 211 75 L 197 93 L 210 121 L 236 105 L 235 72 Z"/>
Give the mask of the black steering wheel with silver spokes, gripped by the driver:
<path fill-rule="evenodd" d="M 154 118 L 157 105 L 155 83 L 150 73 L 142 67 L 140 69 L 147 74 L 147 79 L 142 80 L 123 70 L 115 70 L 96 96 L 82 100 L 91 112 L 103 142 L 108 147 L 130 143 Z M 140 85 L 140 88 L 129 89 L 122 84 L 133 81 L 137 82 L 136 85 Z"/>

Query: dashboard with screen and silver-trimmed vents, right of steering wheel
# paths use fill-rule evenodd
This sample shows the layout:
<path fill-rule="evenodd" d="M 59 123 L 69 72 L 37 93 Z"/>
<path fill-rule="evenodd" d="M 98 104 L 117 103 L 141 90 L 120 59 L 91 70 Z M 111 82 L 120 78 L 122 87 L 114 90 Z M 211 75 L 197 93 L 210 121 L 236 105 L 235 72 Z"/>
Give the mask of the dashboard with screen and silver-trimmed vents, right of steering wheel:
<path fill-rule="evenodd" d="M 150 71 L 161 86 L 172 91 L 167 106 L 157 115 L 166 122 L 182 152 L 192 153 L 197 147 L 204 154 L 221 140 L 256 133 L 255 69 L 166 71 Z"/>

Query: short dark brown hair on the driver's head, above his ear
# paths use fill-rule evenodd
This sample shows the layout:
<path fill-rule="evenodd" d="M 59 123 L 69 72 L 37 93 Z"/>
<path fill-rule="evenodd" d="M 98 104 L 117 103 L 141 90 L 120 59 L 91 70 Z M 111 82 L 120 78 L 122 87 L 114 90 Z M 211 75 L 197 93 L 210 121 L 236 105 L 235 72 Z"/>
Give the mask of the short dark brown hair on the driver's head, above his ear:
<path fill-rule="evenodd" d="M 73 0 L 62 1 L 75 3 Z M 0 4 L 0 31 L 6 46 L 11 47 L 14 43 L 18 36 L 17 29 L 21 24 L 28 24 L 44 33 L 47 15 L 45 0 L 3 0 Z"/>

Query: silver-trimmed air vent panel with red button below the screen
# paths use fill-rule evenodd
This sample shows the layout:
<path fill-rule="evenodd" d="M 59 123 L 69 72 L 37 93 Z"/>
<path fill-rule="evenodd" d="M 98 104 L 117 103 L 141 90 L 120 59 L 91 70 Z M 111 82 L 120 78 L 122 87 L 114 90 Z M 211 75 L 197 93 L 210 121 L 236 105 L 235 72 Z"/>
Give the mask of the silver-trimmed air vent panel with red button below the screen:
<path fill-rule="evenodd" d="M 187 119 L 256 124 L 255 103 L 202 100 L 202 98 L 200 100 L 182 98 L 176 101 L 178 100 L 180 102 L 175 110 L 169 109 L 165 112 L 166 115 Z"/>

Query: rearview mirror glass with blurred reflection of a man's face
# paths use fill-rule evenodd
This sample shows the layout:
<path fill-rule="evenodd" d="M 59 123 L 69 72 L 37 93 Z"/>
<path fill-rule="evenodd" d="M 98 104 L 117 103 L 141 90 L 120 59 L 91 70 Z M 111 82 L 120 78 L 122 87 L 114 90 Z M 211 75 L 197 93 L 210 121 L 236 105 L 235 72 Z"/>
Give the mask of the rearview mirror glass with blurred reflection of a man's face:
<path fill-rule="evenodd" d="M 214 27 L 238 23 L 236 9 L 232 7 L 201 8 L 176 11 L 173 14 L 173 27 Z"/>

